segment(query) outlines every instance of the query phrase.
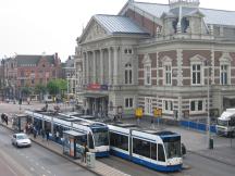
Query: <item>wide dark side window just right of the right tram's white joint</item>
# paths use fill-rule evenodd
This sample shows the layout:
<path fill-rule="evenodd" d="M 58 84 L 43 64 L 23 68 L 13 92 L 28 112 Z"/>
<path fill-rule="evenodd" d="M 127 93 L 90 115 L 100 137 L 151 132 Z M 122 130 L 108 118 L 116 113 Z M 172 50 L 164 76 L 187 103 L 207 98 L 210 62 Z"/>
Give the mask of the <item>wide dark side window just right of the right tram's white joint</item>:
<path fill-rule="evenodd" d="M 150 158 L 150 142 L 133 138 L 133 153 Z"/>

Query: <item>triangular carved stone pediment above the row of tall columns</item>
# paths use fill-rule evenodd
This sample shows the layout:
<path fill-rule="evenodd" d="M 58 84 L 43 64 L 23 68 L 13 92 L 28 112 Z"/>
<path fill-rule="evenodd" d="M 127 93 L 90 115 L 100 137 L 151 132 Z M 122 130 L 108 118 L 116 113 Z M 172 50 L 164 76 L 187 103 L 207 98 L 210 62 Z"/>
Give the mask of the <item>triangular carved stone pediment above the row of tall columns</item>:
<path fill-rule="evenodd" d="M 106 29 L 94 18 L 89 22 L 81 37 L 81 42 L 92 41 L 108 36 Z"/>

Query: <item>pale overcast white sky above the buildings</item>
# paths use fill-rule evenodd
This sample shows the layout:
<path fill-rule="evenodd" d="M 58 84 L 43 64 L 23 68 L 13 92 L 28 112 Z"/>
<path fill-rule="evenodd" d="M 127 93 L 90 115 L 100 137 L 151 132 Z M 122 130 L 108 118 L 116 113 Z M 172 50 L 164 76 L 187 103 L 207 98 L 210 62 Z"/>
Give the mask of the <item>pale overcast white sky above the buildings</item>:
<path fill-rule="evenodd" d="M 136 0 L 168 3 L 169 0 Z M 127 0 L 0 0 L 0 59 L 15 54 L 75 53 L 95 14 L 118 14 Z M 235 11 L 233 0 L 200 0 L 200 8 Z"/>

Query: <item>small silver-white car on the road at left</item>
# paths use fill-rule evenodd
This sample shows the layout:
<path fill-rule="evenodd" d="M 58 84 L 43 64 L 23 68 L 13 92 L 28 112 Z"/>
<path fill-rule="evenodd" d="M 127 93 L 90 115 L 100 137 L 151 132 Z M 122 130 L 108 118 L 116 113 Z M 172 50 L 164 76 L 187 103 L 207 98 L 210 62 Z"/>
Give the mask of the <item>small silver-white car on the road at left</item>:
<path fill-rule="evenodd" d="M 32 146 L 30 139 L 28 138 L 26 134 L 23 134 L 23 133 L 13 134 L 11 141 L 12 141 L 12 144 L 16 146 L 17 148 Z"/>

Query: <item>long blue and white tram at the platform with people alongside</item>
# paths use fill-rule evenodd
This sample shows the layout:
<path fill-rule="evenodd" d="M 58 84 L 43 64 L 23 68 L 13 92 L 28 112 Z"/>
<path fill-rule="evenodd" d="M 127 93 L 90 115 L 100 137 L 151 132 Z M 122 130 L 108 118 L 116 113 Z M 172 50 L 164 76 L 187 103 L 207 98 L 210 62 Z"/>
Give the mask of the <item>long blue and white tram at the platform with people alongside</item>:
<path fill-rule="evenodd" d="M 59 117 L 32 111 L 25 111 L 25 113 L 33 116 L 33 118 L 50 122 L 51 126 L 57 125 L 63 130 L 76 130 L 87 134 L 86 143 L 89 151 L 96 153 L 98 158 L 109 156 L 109 128 L 107 124 L 65 115 L 63 118 L 63 114 L 60 114 Z"/>

